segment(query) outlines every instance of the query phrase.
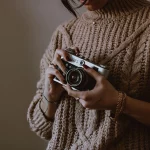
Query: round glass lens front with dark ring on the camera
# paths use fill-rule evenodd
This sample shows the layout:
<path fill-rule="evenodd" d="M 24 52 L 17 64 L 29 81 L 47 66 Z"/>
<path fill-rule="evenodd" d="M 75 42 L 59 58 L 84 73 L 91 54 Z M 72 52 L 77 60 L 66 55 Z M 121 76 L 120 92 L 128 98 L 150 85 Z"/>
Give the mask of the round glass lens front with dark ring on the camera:
<path fill-rule="evenodd" d="M 70 69 L 66 74 L 66 80 L 70 86 L 77 87 L 82 83 L 84 74 L 80 69 Z"/>

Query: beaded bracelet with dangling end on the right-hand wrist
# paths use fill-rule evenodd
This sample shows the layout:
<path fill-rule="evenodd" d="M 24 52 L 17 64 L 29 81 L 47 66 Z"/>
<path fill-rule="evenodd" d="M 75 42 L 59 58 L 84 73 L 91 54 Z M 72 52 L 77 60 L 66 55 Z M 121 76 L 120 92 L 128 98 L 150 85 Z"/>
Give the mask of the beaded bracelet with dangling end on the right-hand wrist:
<path fill-rule="evenodd" d="M 115 112 L 115 138 L 118 136 L 118 118 L 124 111 L 127 95 L 124 92 L 118 91 L 118 101 Z"/>

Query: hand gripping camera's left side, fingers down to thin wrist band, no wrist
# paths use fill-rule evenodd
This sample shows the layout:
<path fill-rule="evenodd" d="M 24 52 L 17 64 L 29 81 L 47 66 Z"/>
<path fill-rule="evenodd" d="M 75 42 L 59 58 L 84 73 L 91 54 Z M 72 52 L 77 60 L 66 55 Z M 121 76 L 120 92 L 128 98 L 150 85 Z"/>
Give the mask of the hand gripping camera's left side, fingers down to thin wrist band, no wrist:
<path fill-rule="evenodd" d="M 58 66 L 63 73 L 66 72 L 66 67 L 64 66 L 61 57 L 64 58 L 65 61 L 69 61 L 69 54 L 67 51 L 62 49 L 57 49 L 54 54 L 54 59 L 47 68 L 45 72 L 45 90 L 44 95 L 49 101 L 57 101 L 59 100 L 64 89 L 62 85 L 55 82 L 53 79 L 57 77 L 62 83 L 65 83 L 65 79 L 63 75 L 58 71 L 55 66 Z"/>

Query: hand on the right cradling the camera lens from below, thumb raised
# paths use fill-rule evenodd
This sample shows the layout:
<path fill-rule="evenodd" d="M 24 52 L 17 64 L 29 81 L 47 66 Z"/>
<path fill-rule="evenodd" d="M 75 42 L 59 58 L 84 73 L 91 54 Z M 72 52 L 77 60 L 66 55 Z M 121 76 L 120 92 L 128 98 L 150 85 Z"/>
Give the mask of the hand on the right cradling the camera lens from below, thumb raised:
<path fill-rule="evenodd" d="M 118 91 L 94 69 L 84 66 L 85 71 L 96 80 L 96 85 L 91 91 L 75 91 L 67 84 L 63 88 L 68 95 L 79 99 L 85 108 L 115 110 L 118 99 Z"/>

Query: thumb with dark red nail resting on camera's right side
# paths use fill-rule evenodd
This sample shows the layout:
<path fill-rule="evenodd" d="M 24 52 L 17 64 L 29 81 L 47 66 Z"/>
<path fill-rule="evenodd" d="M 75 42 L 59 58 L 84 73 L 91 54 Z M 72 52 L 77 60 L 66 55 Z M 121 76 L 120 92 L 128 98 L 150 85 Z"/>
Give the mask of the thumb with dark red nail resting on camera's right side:
<path fill-rule="evenodd" d="M 101 77 L 102 75 L 95 71 L 93 68 L 90 68 L 89 66 L 87 65 L 83 65 L 84 67 L 84 70 L 90 75 L 92 76 L 96 81 L 98 81 L 99 77 Z"/>

